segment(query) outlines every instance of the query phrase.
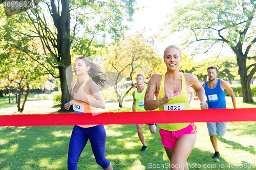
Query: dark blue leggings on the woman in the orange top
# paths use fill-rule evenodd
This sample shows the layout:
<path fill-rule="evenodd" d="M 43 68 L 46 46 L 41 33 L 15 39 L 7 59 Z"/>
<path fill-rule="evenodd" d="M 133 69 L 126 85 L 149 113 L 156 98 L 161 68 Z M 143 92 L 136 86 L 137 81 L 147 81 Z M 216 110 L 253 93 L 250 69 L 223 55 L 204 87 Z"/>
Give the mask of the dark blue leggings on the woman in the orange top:
<path fill-rule="evenodd" d="M 103 125 L 91 128 L 81 128 L 74 126 L 69 142 L 68 169 L 77 170 L 77 161 L 83 148 L 90 139 L 93 154 L 96 162 L 104 169 L 110 165 L 110 161 L 105 158 L 106 132 Z"/>

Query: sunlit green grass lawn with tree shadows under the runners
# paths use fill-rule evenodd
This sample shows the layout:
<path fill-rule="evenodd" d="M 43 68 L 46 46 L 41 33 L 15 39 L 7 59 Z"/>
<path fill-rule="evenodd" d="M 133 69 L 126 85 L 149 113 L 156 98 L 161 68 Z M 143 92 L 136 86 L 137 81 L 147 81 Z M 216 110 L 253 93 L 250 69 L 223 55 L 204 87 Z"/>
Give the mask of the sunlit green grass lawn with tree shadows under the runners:
<path fill-rule="evenodd" d="M 227 107 L 232 108 L 230 97 Z M 254 98 L 256 101 L 256 98 Z M 238 108 L 254 108 L 254 104 L 243 104 L 237 98 Z M 118 103 L 107 103 L 105 111 L 132 111 L 132 101 L 124 102 L 118 109 Z M 9 109 L 9 110 L 6 110 Z M 19 114 L 15 112 L 16 104 L 0 104 L 0 114 Z M 27 105 L 23 114 L 51 113 L 59 107 Z M 193 101 L 190 109 L 199 109 L 199 101 Z M 245 113 L 241 113 L 245 114 Z M 219 161 L 211 156 L 214 149 L 210 143 L 206 123 L 195 123 L 197 141 L 187 162 L 190 169 L 256 169 L 244 168 L 247 163 L 256 166 L 256 122 L 231 122 L 227 125 L 227 133 L 219 138 L 221 154 Z M 73 126 L 48 127 L 0 127 L 0 169 L 67 169 L 69 139 Z M 147 125 L 143 125 L 143 133 L 148 150 L 141 152 L 142 144 L 137 135 L 135 125 L 106 125 L 106 158 L 114 169 L 169 169 L 167 155 L 158 132 L 151 134 Z M 231 168 L 228 164 L 242 163 L 243 168 Z M 153 168 L 161 166 L 162 168 Z M 238 165 L 237 164 L 237 165 Z M 201 165 L 201 168 L 198 166 Z M 206 168 L 203 168 L 203 165 Z M 225 165 L 221 168 L 220 165 Z M 207 167 L 208 166 L 208 167 Z M 152 167 L 152 168 L 151 168 Z M 196 168 L 197 167 L 197 168 Z M 96 163 L 90 142 L 84 148 L 78 169 L 101 169 Z"/>

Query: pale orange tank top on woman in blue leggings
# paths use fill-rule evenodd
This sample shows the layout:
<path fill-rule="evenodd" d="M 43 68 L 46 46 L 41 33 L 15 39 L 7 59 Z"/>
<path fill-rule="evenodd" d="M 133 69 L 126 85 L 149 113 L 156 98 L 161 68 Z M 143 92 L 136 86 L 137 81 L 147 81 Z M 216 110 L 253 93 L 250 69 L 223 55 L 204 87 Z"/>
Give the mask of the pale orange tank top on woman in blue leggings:
<path fill-rule="evenodd" d="M 81 85 L 81 87 L 78 89 L 78 91 L 76 93 L 79 94 L 82 98 L 96 100 L 93 95 L 90 95 L 86 91 L 84 91 L 84 85 L 86 84 L 87 81 L 83 82 L 83 84 Z M 76 82 L 77 82 L 77 80 L 75 81 L 75 83 L 72 87 L 72 91 L 71 91 L 72 93 L 73 93 L 73 88 L 75 87 Z M 76 101 L 76 100 L 73 100 L 73 102 L 74 102 L 73 110 L 75 113 L 98 113 L 98 109 L 96 107 L 90 106 L 87 103 L 83 103 L 82 101 Z M 77 125 L 77 126 L 82 127 L 82 128 L 90 128 L 90 127 L 94 127 L 97 125 Z"/>

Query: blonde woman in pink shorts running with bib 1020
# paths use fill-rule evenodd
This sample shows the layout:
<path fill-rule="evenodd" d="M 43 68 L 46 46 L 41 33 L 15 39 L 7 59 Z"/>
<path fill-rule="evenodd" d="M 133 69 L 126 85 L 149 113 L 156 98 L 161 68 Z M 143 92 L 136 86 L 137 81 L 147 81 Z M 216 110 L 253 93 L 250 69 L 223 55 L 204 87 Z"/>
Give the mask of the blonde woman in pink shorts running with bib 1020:
<path fill-rule="evenodd" d="M 187 110 L 188 89 L 191 86 L 201 101 L 201 109 L 207 109 L 205 91 L 198 78 L 193 74 L 182 74 L 179 71 L 182 61 L 180 48 L 177 45 L 166 47 L 163 59 L 167 71 L 163 75 L 154 74 L 148 82 L 144 98 L 145 110 Z M 170 114 L 173 114 L 175 119 L 175 115 L 179 113 Z M 194 123 L 160 124 L 159 132 L 171 169 L 188 169 L 186 161 L 197 138 Z"/>

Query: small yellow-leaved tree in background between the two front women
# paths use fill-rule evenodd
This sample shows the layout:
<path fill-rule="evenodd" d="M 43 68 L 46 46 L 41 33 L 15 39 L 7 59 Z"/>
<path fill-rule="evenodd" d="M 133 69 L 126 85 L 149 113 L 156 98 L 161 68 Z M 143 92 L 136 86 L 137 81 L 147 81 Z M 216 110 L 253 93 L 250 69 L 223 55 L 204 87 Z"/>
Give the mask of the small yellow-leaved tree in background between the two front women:
<path fill-rule="evenodd" d="M 137 32 L 109 47 L 103 64 L 107 72 L 117 73 L 114 82 L 117 82 L 121 75 L 130 80 L 136 80 L 137 74 L 143 74 L 145 80 L 151 77 L 153 71 L 162 62 L 161 58 L 155 55 L 155 39 L 154 36 L 146 37 L 143 32 Z M 135 82 L 125 93 L 118 91 L 118 85 L 114 84 L 119 107 L 122 107 L 123 99 L 134 87 Z"/>

